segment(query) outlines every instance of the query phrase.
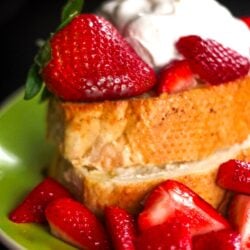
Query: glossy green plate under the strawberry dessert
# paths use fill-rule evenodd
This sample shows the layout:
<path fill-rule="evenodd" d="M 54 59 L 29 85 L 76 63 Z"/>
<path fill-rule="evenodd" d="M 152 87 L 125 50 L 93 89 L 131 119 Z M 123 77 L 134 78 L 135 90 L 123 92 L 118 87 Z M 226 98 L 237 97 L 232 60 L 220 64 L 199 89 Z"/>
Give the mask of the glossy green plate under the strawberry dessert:
<path fill-rule="evenodd" d="M 42 180 L 53 151 L 45 140 L 46 104 L 22 97 L 19 91 L 0 109 L 0 241 L 11 249 L 75 249 L 51 236 L 46 226 L 8 219 L 9 212 Z"/>

